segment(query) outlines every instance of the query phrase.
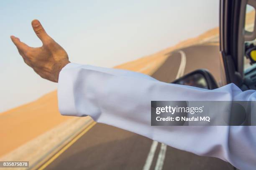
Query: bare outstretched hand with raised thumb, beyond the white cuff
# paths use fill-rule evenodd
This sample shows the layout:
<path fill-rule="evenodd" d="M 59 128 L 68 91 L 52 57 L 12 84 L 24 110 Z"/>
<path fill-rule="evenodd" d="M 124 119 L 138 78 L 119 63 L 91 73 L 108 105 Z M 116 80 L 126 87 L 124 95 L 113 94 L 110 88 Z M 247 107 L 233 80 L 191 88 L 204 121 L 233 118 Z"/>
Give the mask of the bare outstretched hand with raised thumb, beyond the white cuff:
<path fill-rule="evenodd" d="M 69 63 L 67 52 L 47 35 L 38 20 L 32 21 L 32 27 L 43 42 L 42 47 L 29 47 L 14 36 L 11 36 L 11 40 L 18 48 L 24 62 L 32 67 L 38 75 L 47 80 L 58 82 L 59 72 Z"/>

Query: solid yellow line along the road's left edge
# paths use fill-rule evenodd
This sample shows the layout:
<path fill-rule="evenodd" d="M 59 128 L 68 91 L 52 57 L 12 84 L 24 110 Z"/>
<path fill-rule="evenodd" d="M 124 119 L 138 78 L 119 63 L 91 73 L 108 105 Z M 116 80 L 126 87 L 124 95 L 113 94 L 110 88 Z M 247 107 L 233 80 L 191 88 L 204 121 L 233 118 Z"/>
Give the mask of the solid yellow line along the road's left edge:
<path fill-rule="evenodd" d="M 44 170 L 44 168 L 46 168 L 49 164 L 51 164 L 56 158 L 59 157 L 59 155 L 61 155 L 61 153 L 64 153 L 65 150 L 67 150 L 71 145 L 73 145 L 79 138 L 82 137 L 82 135 L 84 135 L 84 133 L 87 133 L 88 130 L 90 130 L 94 125 L 96 124 L 96 122 L 92 122 L 87 128 L 85 128 L 81 133 L 79 133 L 79 135 L 77 135 L 73 140 L 71 140 L 67 145 L 65 145 L 61 150 L 59 150 L 59 152 L 57 152 L 53 157 L 51 157 L 51 159 L 49 159 L 46 163 L 44 163 L 40 168 L 38 168 L 38 170 Z"/>

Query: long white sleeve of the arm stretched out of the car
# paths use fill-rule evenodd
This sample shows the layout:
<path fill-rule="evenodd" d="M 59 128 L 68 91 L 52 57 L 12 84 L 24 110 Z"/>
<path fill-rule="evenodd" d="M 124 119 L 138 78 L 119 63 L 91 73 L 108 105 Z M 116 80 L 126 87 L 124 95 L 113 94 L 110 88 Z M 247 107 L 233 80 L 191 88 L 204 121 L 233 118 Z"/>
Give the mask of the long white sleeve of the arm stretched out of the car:
<path fill-rule="evenodd" d="M 137 72 L 69 63 L 58 84 L 61 115 L 89 115 L 202 156 L 217 157 L 239 169 L 256 169 L 256 126 L 151 126 L 151 100 L 256 100 L 229 84 L 215 90 L 160 82 Z"/>

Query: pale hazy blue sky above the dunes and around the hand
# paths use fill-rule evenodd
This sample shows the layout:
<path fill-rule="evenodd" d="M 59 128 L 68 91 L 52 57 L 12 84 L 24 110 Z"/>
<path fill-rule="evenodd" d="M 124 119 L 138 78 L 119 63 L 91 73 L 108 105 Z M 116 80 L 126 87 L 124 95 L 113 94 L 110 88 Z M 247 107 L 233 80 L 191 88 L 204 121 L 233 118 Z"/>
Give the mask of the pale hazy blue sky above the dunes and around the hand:
<path fill-rule="evenodd" d="M 57 89 L 23 62 L 10 35 L 41 46 L 40 20 L 71 62 L 113 67 L 218 26 L 219 0 L 8 0 L 0 2 L 0 112 Z"/>

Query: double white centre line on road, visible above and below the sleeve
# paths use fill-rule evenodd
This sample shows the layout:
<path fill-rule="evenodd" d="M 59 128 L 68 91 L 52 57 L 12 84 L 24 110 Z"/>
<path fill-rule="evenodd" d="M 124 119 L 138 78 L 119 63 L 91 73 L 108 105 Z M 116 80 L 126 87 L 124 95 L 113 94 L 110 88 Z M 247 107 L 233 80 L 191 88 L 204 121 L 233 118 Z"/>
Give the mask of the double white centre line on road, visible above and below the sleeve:
<path fill-rule="evenodd" d="M 178 78 L 180 78 L 184 75 L 186 62 L 187 62 L 185 52 L 182 51 L 182 50 L 179 50 L 178 52 L 181 55 L 181 61 L 180 61 L 179 70 L 178 70 L 176 79 L 178 79 Z M 150 169 L 153 158 L 154 158 L 154 155 L 155 155 L 155 152 L 156 152 L 157 145 L 158 145 L 158 142 L 153 140 L 153 142 L 151 144 L 150 151 L 148 153 L 148 157 L 146 159 L 146 163 L 143 167 L 143 170 L 149 170 Z M 163 165 L 164 165 L 164 158 L 165 158 L 166 149 L 167 149 L 167 146 L 165 144 L 161 143 L 161 149 L 160 149 L 157 161 L 156 161 L 155 170 L 162 170 Z"/>

